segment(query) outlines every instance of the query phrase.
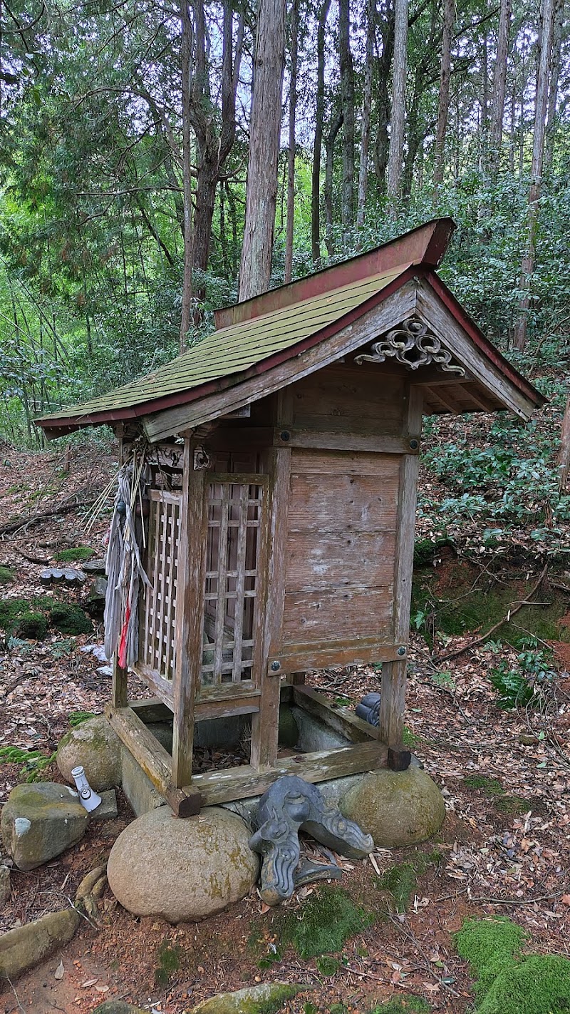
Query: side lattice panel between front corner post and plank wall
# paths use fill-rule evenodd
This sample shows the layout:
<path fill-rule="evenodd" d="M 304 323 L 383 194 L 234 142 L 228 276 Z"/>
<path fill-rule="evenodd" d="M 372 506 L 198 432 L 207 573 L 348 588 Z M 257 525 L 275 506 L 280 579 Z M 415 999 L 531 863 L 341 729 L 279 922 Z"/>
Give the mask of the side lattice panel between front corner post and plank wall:
<path fill-rule="evenodd" d="M 207 484 L 205 687 L 251 682 L 254 675 L 264 488 L 247 478 L 213 476 Z"/>

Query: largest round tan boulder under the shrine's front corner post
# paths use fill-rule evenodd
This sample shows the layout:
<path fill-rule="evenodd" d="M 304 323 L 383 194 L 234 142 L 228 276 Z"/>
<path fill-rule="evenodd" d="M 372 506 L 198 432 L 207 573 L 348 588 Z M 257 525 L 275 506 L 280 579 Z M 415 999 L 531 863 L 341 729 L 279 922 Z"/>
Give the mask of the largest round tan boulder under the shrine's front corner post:
<path fill-rule="evenodd" d="M 209 806 L 177 819 L 169 806 L 144 813 L 125 828 L 107 864 L 109 886 L 135 916 L 195 922 L 250 891 L 258 859 L 237 814 Z"/>

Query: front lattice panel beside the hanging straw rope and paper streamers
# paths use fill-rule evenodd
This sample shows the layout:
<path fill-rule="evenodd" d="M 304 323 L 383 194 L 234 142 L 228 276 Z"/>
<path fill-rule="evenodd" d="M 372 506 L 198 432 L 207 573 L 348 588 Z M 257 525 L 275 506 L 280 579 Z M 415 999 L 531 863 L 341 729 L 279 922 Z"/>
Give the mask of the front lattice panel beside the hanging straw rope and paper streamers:
<path fill-rule="evenodd" d="M 151 490 L 145 620 L 139 661 L 163 679 L 174 675 L 181 494 Z"/>

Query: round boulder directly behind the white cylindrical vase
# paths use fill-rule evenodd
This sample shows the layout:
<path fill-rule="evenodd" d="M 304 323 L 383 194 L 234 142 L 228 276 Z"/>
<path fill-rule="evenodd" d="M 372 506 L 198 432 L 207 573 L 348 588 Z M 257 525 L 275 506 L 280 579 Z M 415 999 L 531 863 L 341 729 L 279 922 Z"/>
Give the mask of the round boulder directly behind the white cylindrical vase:
<path fill-rule="evenodd" d="M 89 718 L 68 732 L 58 746 L 57 763 L 71 785 L 71 773 L 79 765 L 95 792 L 120 785 L 120 740 L 104 715 Z"/>

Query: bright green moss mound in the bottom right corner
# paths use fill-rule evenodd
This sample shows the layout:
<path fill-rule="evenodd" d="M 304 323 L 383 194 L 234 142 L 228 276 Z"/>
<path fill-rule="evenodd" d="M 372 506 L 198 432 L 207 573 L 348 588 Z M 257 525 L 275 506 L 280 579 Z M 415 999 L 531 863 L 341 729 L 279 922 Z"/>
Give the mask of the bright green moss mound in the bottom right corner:
<path fill-rule="evenodd" d="M 522 956 L 524 931 L 509 919 L 467 920 L 455 942 L 478 975 L 477 1014 L 565 1014 L 570 1009 L 570 960 Z"/>

